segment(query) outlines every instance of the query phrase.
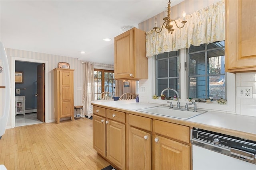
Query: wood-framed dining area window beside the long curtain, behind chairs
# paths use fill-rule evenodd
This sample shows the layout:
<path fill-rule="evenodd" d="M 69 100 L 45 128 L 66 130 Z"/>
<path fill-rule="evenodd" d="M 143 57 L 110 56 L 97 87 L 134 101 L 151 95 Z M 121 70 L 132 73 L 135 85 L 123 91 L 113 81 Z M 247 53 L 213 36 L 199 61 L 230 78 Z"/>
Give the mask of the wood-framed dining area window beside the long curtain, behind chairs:
<path fill-rule="evenodd" d="M 115 80 L 113 70 L 94 69 L 94 93 L 95 99 L 100 100 L 102 92 L 115 93 Z"/>

